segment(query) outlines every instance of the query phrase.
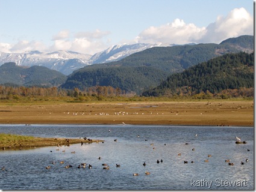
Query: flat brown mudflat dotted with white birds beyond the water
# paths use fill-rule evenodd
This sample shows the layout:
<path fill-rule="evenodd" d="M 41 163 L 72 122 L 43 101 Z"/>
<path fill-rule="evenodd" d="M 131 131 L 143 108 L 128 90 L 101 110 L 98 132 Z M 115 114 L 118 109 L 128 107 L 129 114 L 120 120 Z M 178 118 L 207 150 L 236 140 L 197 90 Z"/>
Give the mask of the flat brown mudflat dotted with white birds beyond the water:
<path fill-rule="evenodd" d="M 254 101 L 0 104 L 0 124 L 253 126 Z"/>

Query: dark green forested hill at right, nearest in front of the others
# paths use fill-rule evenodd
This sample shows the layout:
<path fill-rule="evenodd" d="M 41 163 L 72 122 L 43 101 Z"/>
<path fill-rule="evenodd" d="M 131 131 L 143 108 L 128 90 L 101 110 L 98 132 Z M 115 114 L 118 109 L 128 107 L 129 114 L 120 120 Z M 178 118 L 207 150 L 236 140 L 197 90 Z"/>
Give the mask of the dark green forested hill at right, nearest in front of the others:
<path fill-rule="evenodd" d="M 225 89 L 254 88 L 254 53 L 229 53 L 183 73 L 172 74 L 144 96 L 211 94 Z"/>

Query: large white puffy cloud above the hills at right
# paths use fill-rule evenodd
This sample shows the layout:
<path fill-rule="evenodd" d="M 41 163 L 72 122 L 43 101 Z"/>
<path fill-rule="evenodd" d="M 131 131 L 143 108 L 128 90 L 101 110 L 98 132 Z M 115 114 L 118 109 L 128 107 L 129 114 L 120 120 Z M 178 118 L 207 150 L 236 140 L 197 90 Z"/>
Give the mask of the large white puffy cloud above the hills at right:
<path fill-rule="evenodd" d="M 254 34 L 254 19 L 245 8 L 236 8 L 228 16 L 219 16 L 216 22 L 199 28 L 193 23 L 186 24 L 182 19 L 162 26 L 151 26 L 142 31 L 138 43 L 220 43 L 226 38 Z"/>

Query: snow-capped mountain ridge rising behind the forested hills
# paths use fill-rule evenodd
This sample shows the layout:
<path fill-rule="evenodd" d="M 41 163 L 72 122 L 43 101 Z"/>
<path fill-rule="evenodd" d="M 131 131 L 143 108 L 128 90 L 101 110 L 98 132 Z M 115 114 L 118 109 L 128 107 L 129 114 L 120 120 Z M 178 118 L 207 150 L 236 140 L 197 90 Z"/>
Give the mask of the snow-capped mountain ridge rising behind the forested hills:
<path fill-rule="evenodd" d="M 74 70 L 85 67 L 86 65 L 119 61 L 128 55 L 155 46 L 160 46 L 160 44 L 137 43 L 115 45 L 93 56 L 65 50 L 48 53 L 37 50 L 24 53 L 0 52 L 0 65 L 6 62 L 15 62 L 16 65 L 28 67 L 39 65 L 68 75 Z"/>

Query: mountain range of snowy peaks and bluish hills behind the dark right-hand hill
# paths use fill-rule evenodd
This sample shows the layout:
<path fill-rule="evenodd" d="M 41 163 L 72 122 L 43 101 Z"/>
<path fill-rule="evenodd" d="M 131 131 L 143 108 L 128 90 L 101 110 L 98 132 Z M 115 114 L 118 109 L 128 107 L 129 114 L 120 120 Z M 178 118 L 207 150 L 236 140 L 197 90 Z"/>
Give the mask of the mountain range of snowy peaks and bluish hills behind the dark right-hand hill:
<path fill-rule="evenodd" d="M 229 38 L 220 44 L 158 46 L 159 44 L 113 46 L 93 56 L 67 51 L 51 53 L 34 51 L 23 55 L 1 53 L 1 61 L 13 59 L 17 64 L 8 62 L 0 66 L 0 85 L 12 83 L 23 86 L 60 86 L 64 89 L 79 88 L 81 91 L 99 85 L 142 94 L 148 89 L 159 86 L 170 75 L 182 73 L 217 56 L 227 53 L 252 53 L 254 36 Z M 142 51 L 136 52 L 137 50 Z M 131 54 L 132 52 L 136 53 Z M 122 58 L 123 55 L 129 56 Z M 111 59 L 120 60 L 108 62 Z M 104 63 L 89 65 L 89 61 L 92 60 Z M 30 65 L 22 66 L 24 64 Z M 54 69 L 62 68 L 66 70 L 66 74 L 71 68 L 73 73 L 65 76 L 56 70 L 43 67 L 44 65 Z M 84 65 L 86 67 L 81 68 Z"/>

